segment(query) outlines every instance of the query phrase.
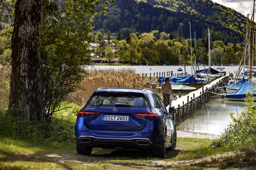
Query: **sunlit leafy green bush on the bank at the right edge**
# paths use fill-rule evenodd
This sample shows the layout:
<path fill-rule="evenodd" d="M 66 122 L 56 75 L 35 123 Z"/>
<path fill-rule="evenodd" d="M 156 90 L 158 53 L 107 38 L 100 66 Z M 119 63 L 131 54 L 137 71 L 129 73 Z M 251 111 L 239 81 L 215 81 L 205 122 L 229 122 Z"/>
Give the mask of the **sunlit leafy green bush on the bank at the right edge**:
<path fill-rule="evenodd" d="M 252 94 L 247 94 L 246 107 L 240 110 L 238 116 L 230 113 L 232 122 L 222 133 L 222 137 L 213 142 L 211 147 L 225 147 L 256 139 L 256 105 L 254 103 L 256 97 L 253 95 L 254 91 L 255 87 L 252 89 Z"/>

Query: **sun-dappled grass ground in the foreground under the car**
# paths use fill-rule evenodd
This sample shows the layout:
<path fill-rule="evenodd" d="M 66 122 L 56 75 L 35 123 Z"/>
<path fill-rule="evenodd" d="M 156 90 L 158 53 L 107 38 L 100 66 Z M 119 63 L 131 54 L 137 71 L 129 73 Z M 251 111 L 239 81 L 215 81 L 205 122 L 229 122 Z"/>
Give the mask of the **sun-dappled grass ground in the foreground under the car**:
<path fill-rule="evenodd" d="M 76 153 L 75 142 L 38 144 L 0 137 L 0 169 L 225 169 L 255 166 L 255 162 L 248 161 L 255 157 L 255 148 L 251 147 L 255 146 L 255 141 L 222 149 L 208 148 L 210 139 L 177 138 L 177 141 L 174 151 L 167 151 L 165 159 L 158 159 L 151 157 L 150 150 L 93 148 L 90 156 L 84 156 Z M 233 154 L 223 154 L 230 152 Z M 217 157 L 217 154 L 222 155 Z"/>

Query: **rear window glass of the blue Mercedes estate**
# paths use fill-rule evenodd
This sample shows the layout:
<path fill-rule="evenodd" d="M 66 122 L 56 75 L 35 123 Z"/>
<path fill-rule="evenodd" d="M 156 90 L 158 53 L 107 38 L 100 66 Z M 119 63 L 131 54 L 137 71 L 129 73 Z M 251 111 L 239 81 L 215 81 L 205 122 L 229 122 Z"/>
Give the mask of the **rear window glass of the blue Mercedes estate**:
<path fill-rule="evenodd" d="M 135 106 L 136 108 L 147 107 L 143 94 L 127 93 L 95 93 L 87 102 L 87 105 L 96 107 L 115 107 L 115 103 L 130 104 L 131 107 Z"/>

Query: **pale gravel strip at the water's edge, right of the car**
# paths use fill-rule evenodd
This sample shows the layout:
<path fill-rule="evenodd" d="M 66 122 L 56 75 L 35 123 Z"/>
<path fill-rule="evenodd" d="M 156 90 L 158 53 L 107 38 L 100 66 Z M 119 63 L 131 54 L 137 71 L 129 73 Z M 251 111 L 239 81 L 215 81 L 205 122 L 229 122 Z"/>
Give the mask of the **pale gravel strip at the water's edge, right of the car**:
<path fill-rule="evenodd" d="M 177 137 L 219 139 L 221 135 L 177 130 Z"/>

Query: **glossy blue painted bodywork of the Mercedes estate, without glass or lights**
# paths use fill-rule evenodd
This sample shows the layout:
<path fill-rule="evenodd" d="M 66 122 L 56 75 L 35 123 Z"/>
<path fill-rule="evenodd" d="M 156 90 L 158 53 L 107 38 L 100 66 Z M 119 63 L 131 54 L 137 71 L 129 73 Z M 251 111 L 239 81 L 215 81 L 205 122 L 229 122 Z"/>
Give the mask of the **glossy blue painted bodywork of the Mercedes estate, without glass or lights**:
<path fill-rule="evenodd" d="M 116 91 L 122 91 L 126 92 L 127 94 L 134 94 L 134 93 L 142 93 L 145 96 L 145 99 L 147 101 L 147 107 L 146 108 L 133 108 L 133 107 L 116 107 L 118 109 L 118 112 L 121 112 L 121 114 L 129 115 L 129 121 L 131 122 L 124 122 L 127 124 L 128 130 L 124 130 L 121 128 L 123 122 L 117 122 L 117 121 L 102 121 L 102 112 L 108 115 L 115 115 L 117 113 L 113 112 L 114 107 L 94 107 L 94 106 L 87 106 L 87 104 L 82 108 L 83 110 L 88 111 L 97 111 L 100 112 L 99 114 L 90 115 L 90 116 L 84 116 L 84 117 L 77 117 L 76 120 L 76 127 L 75 127 L 75 136 L 76 136 L 76 144 L 77 145 L 85 145 L 85 146 L 92 146 L 92 147 L 102 147 L 100 144 L 90 144 L 88 143 L 80 143 L 78 139 L 80 139 L 81 136 L 90 136 L 92 140 L 97 141 L 98 138 L 106 138 L 110 141 L 110 145 L 112 142 L 112 138 L 115 140 L 120 139 L 134 139 L 134 138 L 141 138 L 141 139 L 149 139 L 152 144 L 149 146 L 131 146 L 133 147 L 140 147 L 140 148 L 161 148 L 163 143 L 163 136 L 164 131 L 166 128 L 166 114 L 168 112 L 166 110 L 162 109 L 156 109 L 153 108 L 151 105 L 153 103 L 153 97 L 151 96 L 151 91 L 143 91 L 142 89 L 100 89 L 96 90 L 95 93 L 111 93 Z M 92 96 L 93 96 L 92 95 Z M 90 97 L 90 99 L 92 98 Z M 89 99 L 89 100 L 90 100 Z M 88 101 L 89 101 L 88 100 Z M 139 112 L 151 112 L 156 111 L 158 113 L 158 118 L 156 120 L 146 119 L 143 117 L 138 117 L 131 115 L 130 113 L 139 113 Z M 119 113 L 120 114 L 120 113 Z M 133 117 L 133 119 L 131 119 Z M 100 122 L 102 121 L 102 122 Z M 97 125 L 94 125 L 93 123 L 98 123 Z M 100 122 L 100 123 L 99 123 Z M 142 122 L 142 123 L 138 123 Z M 175 126 L 175 123 L 173 123 L 173 126 Z M 106 130 L 106 127 L 108 129 Z M 119 127 L 120 126 L 120 127 Z M 139 129 L 136 128 L 136 126 L 141 126 Z M 113 128 L 113 130 L 111 130 Z M 89 132 L 79 132 L 79 130 L 83 131 L 89 131 Z M 139 134 L 139 133 L 148 133 L 148 134 Z M 114 142 L 115 143 L 115 142 Z M 135 143 L 136 144 L 136 143 Z M 115 146 L 115 144 L 113 144 Z M 124 146 L 124 145 L 121 145 Z M 129 146 L 126 146 L 129 147 Z"/>

